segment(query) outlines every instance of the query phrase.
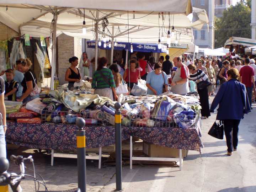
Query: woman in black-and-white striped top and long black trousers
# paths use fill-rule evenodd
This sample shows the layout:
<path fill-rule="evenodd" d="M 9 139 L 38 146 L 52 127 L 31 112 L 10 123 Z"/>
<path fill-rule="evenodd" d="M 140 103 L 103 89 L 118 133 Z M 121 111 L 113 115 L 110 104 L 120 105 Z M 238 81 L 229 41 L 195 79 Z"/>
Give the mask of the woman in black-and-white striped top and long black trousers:
<path fill-rule="evenodd" d="M 200 69 L 197 69 L 195 65 L 188 65 L 188 70 L 190 71 L 190 78 L 189 80 L 192 80 L 196 83 L 200 81 L 205 81 L 208 79 L 208 76 Z M 208 100 L 208 90 L 207 87 L 203 90 L 197 90 L 199 95 L 199 101 L 200 105 L 202 107 L 201 114 L 202 119 L 206 119 L 210 116 L 210 108 L 209 108 L 209 100 Z"/>

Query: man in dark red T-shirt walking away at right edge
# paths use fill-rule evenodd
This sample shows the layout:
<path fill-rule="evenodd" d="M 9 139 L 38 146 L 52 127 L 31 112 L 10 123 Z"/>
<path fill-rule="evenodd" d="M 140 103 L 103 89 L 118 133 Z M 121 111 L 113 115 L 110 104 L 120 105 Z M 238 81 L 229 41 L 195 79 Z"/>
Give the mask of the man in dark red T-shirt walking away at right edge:
<path fill-rule="evenodd" d="M 254 79 L 254 68 L 250 66 L 250 59 L 245 59 L 245 65 L 240 69 L 239 80 L 245 85 L 246 91 L 249 98 L 250 107 L 252 109 L 252 90 L 255 89 L 255 79 Z"/>

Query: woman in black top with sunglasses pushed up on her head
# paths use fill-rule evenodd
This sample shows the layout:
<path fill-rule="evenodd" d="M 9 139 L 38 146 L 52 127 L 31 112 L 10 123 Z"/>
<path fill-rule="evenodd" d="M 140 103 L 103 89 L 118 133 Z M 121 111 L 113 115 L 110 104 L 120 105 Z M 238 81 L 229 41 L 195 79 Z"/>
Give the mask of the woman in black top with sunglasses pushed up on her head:
<path fill-rule="evenodd" d="M 33 100 L 34 98 L 39 97 L 38 94 L 31 96 L 33 89 L 37 86 L 36 75 L 31 71 L 32 62 L 30 59 L 19 59 L 16 61 L 16 68 L 18 71 L 24 74 L 24 79 L 21 82 L 23 87 L 22 96 L 17 99 L 17 101 L 26 103 L 28 101 Z"/>

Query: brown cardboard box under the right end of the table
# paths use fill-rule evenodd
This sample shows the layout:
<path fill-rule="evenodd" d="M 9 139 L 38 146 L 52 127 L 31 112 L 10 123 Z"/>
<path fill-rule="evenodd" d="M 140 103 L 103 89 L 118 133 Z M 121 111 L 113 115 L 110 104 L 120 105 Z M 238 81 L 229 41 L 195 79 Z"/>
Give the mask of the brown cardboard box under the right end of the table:
<path fill-rule="evenodd" d="M 143 153 L 149 157 L 156 158 L 179 158 L 179 149 L 154 145 L 148 142 L 143 142 Z M 182 157 L 186 157 L 188 150 L 182 149 Z"/>

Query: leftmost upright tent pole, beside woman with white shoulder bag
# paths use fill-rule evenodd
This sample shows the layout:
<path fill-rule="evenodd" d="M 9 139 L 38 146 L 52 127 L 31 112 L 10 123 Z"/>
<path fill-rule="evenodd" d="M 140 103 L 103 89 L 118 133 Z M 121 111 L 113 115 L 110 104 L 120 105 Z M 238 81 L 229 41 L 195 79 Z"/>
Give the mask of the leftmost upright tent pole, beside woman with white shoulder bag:
<path fill-rule="evenodd" d="M 54 75 L 56 71 L 56 33 L 57 33 L 57 20 L 58 20 L 58 14 L 54 13 L 53 16 L 54 25 L 53 25 L 53 34 L 52 34 L 52 69 L 51 69 L 51 82 L 50 82 L 50 89 L 54 90 Z"/>

